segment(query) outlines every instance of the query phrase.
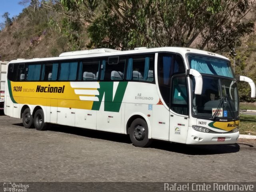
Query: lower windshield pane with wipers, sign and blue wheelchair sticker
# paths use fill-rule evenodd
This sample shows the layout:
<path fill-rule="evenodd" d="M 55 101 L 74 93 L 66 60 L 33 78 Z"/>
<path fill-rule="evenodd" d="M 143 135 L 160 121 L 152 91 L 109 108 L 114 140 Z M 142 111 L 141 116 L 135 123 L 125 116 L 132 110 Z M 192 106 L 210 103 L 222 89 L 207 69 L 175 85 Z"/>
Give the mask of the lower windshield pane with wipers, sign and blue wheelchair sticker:
<path fill-rule="evenodd" d="M 195 80 L 192 78 L 193 88 Z M 201 95 L 193 94 L 192 114 L 210 118 L 237 118 L 238 89 L 233 80 L 203 76 Z M 218 113 L 214 114 L 218 109 Z"/>

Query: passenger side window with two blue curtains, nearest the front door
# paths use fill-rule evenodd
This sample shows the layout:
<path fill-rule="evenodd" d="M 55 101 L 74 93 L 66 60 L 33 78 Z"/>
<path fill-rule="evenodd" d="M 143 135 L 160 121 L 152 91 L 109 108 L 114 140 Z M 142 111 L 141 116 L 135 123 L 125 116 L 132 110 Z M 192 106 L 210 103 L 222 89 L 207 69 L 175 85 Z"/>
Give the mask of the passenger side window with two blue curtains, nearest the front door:
<path fill-rule="evenodd" d="M 154 55 L 128 57 L 126 80 L 154 80 Z"/>

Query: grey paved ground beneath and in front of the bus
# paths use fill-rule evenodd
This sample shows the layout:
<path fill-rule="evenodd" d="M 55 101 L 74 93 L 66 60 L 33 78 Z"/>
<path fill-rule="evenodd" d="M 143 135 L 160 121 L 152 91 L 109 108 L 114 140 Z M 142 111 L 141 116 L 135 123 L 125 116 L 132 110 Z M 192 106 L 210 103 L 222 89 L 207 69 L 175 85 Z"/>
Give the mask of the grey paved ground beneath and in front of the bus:
<path fill-rule="evenodd" d="M 255 182 L 256 140 L 188 146 L 0 116 L 0 182 Z"/>

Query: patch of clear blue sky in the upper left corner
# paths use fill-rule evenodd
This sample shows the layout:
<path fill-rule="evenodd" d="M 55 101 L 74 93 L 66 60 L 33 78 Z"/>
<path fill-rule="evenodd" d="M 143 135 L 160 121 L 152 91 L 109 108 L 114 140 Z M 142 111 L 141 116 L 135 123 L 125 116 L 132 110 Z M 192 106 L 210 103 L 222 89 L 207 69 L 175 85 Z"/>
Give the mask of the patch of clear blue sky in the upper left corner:
<path fill-rule="evenodd" d="M 2 15 L 5 12 L 10 13 L 10 18 L 22 12 L 22 9 L 25 7 L 18 4 L 18 2 L 20 1 L 22 0 L 0 0 L 0 23 L 4 22 L 4 18 L 2 18 Z"/>

